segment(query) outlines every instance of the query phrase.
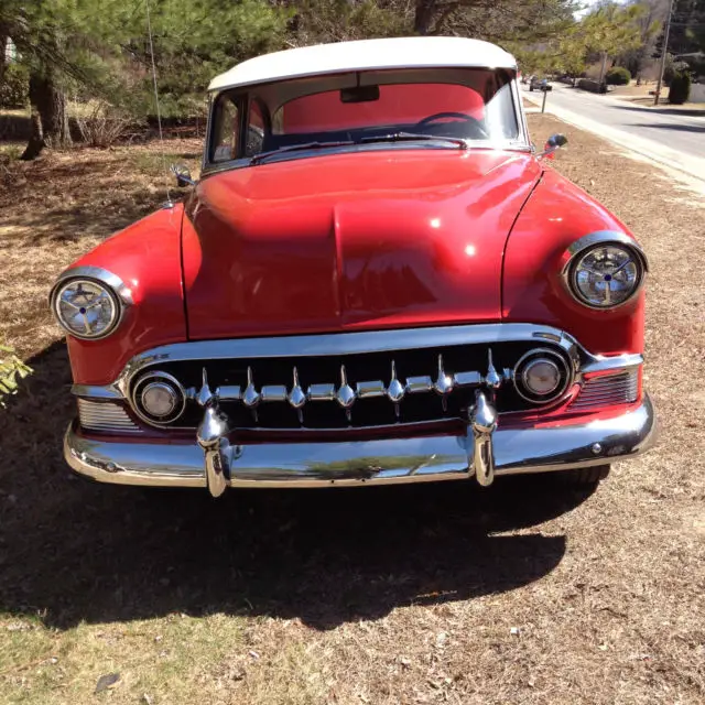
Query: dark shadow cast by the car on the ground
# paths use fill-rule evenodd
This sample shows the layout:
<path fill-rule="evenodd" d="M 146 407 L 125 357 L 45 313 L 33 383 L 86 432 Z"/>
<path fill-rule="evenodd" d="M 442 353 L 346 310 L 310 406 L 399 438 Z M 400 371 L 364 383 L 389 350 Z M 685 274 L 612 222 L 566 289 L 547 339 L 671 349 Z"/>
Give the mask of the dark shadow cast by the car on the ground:
<path fill-rule="evenodd" d="M 543 521 L 589 492 L 551 477 L 352 490 L 140 490 L 74 478 L 66 348 L 0 413 L 0 611 L 51 627 L 171 612 L 299 617 L 317 629 L 550 574 Z M 524 530 L 522 533 L 512 533 Z M 497 534 L 500 535 L 497 535 Z"/>

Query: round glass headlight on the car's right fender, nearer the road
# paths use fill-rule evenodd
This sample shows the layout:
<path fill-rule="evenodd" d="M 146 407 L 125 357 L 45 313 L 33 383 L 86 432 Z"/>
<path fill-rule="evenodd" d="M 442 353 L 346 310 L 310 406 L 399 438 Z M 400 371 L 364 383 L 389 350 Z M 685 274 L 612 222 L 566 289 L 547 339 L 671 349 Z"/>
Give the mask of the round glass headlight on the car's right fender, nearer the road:
<path fill-rule="evenodd" d="M 570 283 L 574 295 L 594 308 L 610 308 L 627 302 L 639 290 L 643 263 L 623 245 L 592 247 L 575 257 Z"/>

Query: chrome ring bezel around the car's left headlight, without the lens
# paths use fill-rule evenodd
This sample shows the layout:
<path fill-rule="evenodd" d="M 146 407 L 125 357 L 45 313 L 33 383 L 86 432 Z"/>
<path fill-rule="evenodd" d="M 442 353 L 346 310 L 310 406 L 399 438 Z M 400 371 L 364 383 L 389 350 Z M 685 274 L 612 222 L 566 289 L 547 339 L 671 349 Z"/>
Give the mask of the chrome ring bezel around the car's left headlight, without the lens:
<path fill-rule="evenodd" d="M 68 286 L 76 282 L 86 282 L 106 292 L 112 305 L 112 316 L 109 325 L 98 334 L 85 334 L 74 330 L 64 319 L 59 310 L 59 297 Z M 124 316 L 126 308 L 132 305 L 132 294 L 122 280 L 111 272 L 98 267 L 76 267 L 63 272 L 50 293 L 50 307 L 58 325 L 74 338 L 80 340 L 101 340 L 112 335 Z"/>

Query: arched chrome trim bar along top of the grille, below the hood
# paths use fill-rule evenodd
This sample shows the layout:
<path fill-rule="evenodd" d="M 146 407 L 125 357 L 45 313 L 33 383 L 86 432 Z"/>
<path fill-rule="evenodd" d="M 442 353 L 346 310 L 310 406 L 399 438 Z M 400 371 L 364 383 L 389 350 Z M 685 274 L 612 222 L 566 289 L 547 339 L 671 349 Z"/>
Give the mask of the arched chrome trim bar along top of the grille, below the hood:
<path fill-rule="evenodd" d="M 538 345 L 540 345 L 541 341 L 551 341 L 558 345 L 568 358 L 573 360 L 576 381 L 579 381 L 585 373 L 620 370 L 643 362 L 643 357 L 640 354 L 616 356 L 593 355 L 585 350 L 573 336 L 551 326 L 533 325 L 530 323 L 488 323 L 426 328 L 392 328 L 370 332 L 174 343 L 152 348 L 134 356 L 126 365 L 118 379 L 111 384 L 74 384 L 72 391 L 77 397 L 127 399 L 130 383 L 134 376 L 151 366 L 173 361 L 215 360 L 238 357 L 355 355 L 360 352 L 383 352 L 448 345 L 492 345 L 512 340 L 536 343 Z"/>

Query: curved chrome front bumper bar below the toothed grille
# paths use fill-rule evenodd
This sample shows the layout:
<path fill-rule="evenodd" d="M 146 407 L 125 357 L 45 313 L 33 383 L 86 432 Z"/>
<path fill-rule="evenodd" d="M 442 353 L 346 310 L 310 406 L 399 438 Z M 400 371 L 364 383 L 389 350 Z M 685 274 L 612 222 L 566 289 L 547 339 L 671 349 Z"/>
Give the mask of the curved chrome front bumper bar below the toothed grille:
<path fill-rule="evenodd" d="M 250 445 L 225 442 L 216 452 L 220 467 L 215 468 L 208 467 L 203 443 L 98 441 L 84 437 L 72 424 L 64 440 L 64 456 L 74 470 L 101 482 L 207 487 L 218 495 L 218 484 L 321 487 L 477 476 L 480 484 L 488 485 L 488 462 L 498 476 L 604 465 L 642 453 L 653 438 L 653 408 L 644 395 L 628 413 L 579 424 L 563 421 L 512 429 L 502 427 L 500 419 L 496 429 L 484 431 L 481 424 L 468 424 L 467 433 L 458 436 Z M 486 444 L 484 458 L 478 443 Z"/>

